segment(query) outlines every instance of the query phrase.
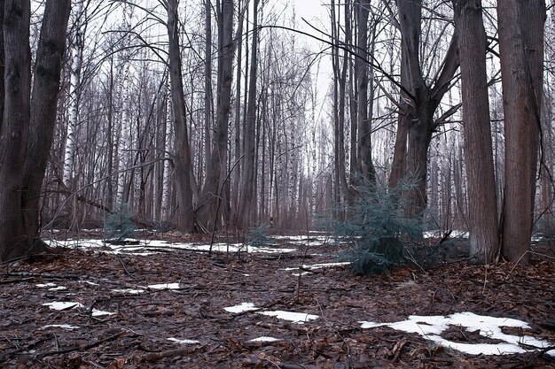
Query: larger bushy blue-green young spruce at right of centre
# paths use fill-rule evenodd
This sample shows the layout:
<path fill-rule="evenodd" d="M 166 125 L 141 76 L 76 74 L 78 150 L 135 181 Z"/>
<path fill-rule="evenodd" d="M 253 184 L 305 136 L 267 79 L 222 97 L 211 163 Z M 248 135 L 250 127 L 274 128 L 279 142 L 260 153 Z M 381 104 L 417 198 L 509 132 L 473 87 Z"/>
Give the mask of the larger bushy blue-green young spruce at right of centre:
<path fill-rule="evenodd" d="M 353 188 L 343 219 L 332 221 L 336 242 L 351 245 L 342 259 L 351 262 L 356 274 L 387 273 L 404 265 L 413 244 L 422 240 L 422 220 L 406 215 L 403 194 L 412 186 L 372 189 L 368 184 Z M 338 210 L 334 211 L 338 214 Z"/>

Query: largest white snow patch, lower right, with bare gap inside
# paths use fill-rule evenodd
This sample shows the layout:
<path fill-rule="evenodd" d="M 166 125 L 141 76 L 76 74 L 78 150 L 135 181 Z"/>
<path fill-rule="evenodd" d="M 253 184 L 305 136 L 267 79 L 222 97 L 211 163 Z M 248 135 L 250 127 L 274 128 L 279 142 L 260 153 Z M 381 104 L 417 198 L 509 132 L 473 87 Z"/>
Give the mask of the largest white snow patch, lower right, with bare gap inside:
<path fill-rule="evenodd" d="M 521 320 L 481 316 L 473 312 L 457 312 L 447 317 L 411 315 L 409 319 L 395 323 L 369 321 L 360 321 L 359 323 L 361 323 L 362 328 L 391 327 L 407 333 L 420 334 L 438 345 L 462 351 L 469 355 L 504 355 L 527 352 L 527 350 L 520 347 L 520 344 L 526 344 L 538 349 L 551 346 L 550 342 L 538 340 L 534 337 L 504 334 L 502 332 L 501 327 L 529 329 L 528 324 Z M 449 326 L 465 327 L 469 332 L 478 330 L 484 337 L 504 342 L 478 344 L 451 342 L 441 336 Z M 555 357 L 555 350 L 548 351 L 548 354 Z"/>

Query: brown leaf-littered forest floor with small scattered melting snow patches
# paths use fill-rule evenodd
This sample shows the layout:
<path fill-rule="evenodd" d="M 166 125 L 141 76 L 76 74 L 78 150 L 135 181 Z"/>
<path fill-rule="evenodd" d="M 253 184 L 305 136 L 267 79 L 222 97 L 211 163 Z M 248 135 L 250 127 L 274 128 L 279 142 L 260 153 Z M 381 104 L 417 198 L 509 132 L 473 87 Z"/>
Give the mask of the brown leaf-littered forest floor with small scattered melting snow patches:
<path fill-rule="evenodd" d="M 35 260 L 4 265 L 0 367 L 555 367 L 555 351 L 537 346 L 517 343 L 524 352 L 469 355 L 426 334 L 361 324 L 472 312 L 523 320 L 529 328 L 503 327 L 503 334 L 520 342 L 535 337 L 553 349 L 552 241 L 533 246 L 528 267 L 462 261 L 373 276 L 353 275 L 347 265 L 310 268 L 337 260 L 340 250 L 325 242 L 280 239 L 278 246 L 290 250 L 129 255 L 52 248 Z M 237 312 L 224 310 L 237 305 Z M 501 342 L 478 329 L 444 328 L 435 338 L 461 347 Z"/>

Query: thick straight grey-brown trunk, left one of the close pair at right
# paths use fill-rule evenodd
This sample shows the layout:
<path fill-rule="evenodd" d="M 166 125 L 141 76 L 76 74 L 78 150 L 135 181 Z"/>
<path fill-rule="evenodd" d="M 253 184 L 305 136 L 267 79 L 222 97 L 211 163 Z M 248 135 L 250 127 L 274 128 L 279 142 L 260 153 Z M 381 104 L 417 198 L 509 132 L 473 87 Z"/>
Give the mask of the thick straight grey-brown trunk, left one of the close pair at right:
<path fill-rule="evenodd" d="M 454 0 L 461 67 L 470 256 L 475 264 L 499 255 L 496 180 L 489 122 L 486 31 L 481 0 Z"/>

